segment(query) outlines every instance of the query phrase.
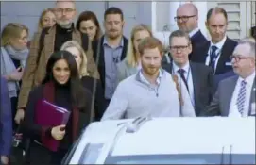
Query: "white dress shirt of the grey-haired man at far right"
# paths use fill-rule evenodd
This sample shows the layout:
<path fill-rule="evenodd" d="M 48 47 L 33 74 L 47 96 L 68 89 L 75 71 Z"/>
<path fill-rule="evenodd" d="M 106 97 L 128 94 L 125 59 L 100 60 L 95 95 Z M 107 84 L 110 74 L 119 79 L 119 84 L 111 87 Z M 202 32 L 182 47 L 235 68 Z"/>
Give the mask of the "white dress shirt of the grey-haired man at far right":
<path fill-rule="evenodd" d="M 248 112 L 248 108 L 249 108 L 249 102 L 250 102 L 250 95 L 251 95 L 251 88 L 253 86 L 253 82 L 254 82 L 254 78 L 255 78 L 255 72 L 253 72 L 253 74 L 249 75 L 246 79 L 243 79 L 242 77 L 239 77 L 236 85 L 235 85 L 235 89 L 233 91 L 232 94 L 232 98 L 231 98 L 231 102 L 230 102 L 230 113 L 229 116 L 230 117 L 247 117 L 247 112 Z M 245 101 L 245 106 L 244 106 L 244 112 L 242 115 L 241 113 L 238 111 L 238 107 L 236 105 L 236 101 L 237 101 L 237 97 L 241 88 L 241 82 L 245 80 L 247 82 L 246 84 L 246 101 Z"/>

